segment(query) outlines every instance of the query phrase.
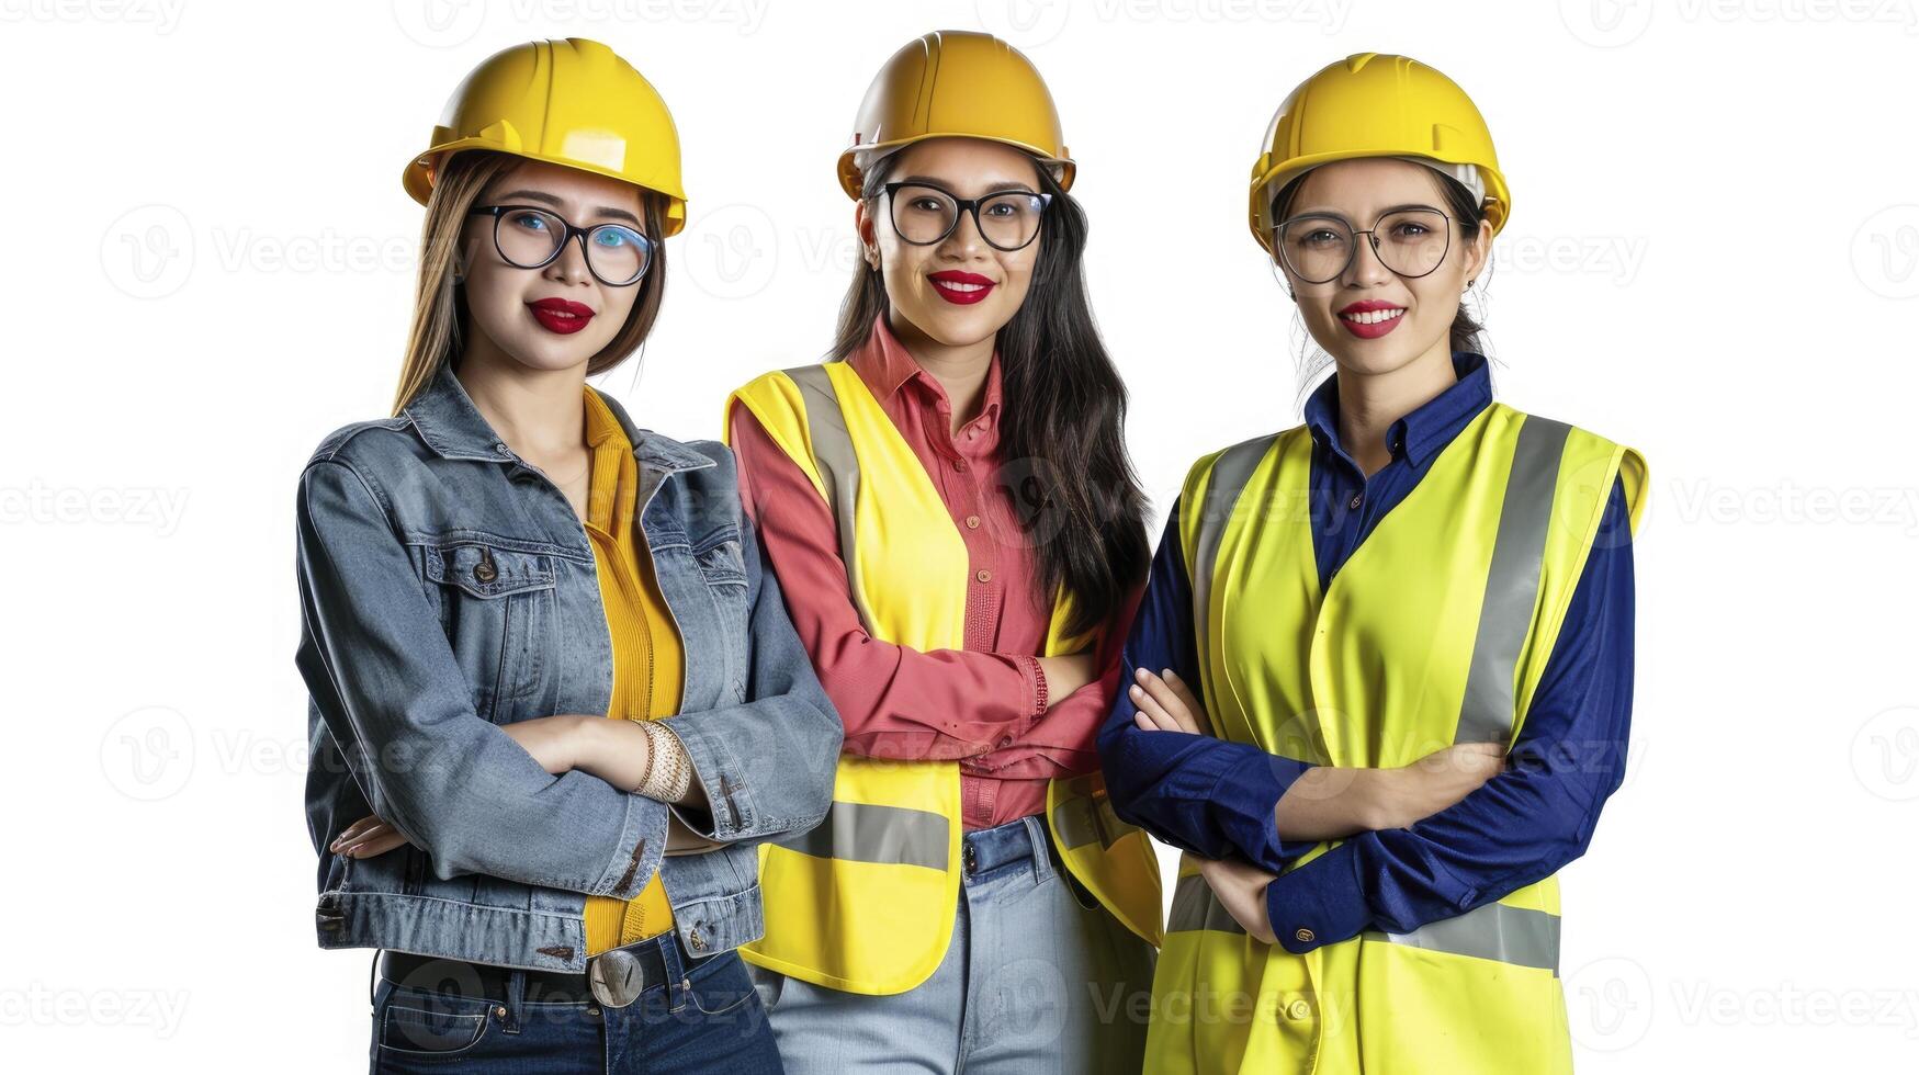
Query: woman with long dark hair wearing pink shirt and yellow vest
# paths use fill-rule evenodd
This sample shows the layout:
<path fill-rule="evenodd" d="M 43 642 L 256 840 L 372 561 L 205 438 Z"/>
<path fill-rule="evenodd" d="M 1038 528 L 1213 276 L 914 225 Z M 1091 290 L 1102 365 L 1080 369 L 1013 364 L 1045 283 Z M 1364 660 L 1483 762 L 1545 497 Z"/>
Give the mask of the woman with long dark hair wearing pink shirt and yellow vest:
<path fill-rule="evenodd" d="M 846 728 L 745 954 L 791 1071 L 1136 1071 L 1159 877 L 1094 735 L 1149 549 L 1052 96 L 988 35 L 927 35 L 839 175 L 864 251 L 839 340 L 727 403 Z"/>

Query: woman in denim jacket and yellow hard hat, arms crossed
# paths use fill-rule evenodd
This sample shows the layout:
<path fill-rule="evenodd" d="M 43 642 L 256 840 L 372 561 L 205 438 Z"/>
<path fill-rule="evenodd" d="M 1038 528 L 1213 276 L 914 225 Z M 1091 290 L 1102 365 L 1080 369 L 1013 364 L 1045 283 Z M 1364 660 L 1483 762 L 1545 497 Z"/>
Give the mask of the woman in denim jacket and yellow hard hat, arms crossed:
<path fill-rule="evenodd" d="M 405 182 L 395 415 L 299 482 L 320 946 L 386 950 L 376 1071 L 779 1071 L 735 948 L 754 845 L 825 814 L 841 722 L 731 453 L 585 384 L 660 305 L 672 117 L 606 46 L 532 42 Z"/>

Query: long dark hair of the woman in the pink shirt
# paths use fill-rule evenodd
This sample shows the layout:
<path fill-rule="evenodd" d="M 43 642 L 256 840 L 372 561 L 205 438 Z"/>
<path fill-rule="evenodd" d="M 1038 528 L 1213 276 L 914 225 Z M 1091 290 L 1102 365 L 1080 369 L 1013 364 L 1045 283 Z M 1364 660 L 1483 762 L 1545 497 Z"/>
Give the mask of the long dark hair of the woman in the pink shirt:
<path fill-rule="evenodd" d="M 1086 213 L 1046 167 L 1036 171 L 1052 194 L 1040 255 L 1027 299 L 998 336 L 1002 484 L 1032 543 L 1040 595 L 1069 593 L 1067 633 L 1082 635 L 1125 609 L 1151 547 L 1146 493 L 1126 457 L 1126 386 L 1100 344 L 1080 271 Z M 881 198 L 888 173 L 867 169 L 862 198 Z M 841 303 L 833 361 L 864 347 L 890 311 L 881 271 L 862 261 Z"/>

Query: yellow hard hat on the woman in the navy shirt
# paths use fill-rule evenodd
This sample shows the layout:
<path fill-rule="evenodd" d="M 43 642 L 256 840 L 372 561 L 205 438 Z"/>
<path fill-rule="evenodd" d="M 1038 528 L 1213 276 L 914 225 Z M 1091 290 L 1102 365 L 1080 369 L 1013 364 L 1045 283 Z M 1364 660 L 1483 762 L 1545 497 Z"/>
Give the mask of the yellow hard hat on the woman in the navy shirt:
<path fill-rule="evenodd" d="M 1355 52 L 1299 83 L 1259 150 L 1249 221 L 1267 253 L 1272 253 L 1272 198 L 1280 188 L 1307 169 L 1353 157 L 1414 155 L 1472 165 L 1485 190 L 1480 211 L 1493 234 L 1512 215 L 1493 132 L 1472 98 L 1453 79 L 1405 56 Z"/>

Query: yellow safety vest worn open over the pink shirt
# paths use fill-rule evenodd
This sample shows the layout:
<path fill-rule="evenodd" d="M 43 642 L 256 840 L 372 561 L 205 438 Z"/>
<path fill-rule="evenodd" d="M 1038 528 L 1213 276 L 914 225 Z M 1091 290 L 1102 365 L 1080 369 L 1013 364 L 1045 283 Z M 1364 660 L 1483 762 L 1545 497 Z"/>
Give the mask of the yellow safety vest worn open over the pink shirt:
<path fill-rule="evenodd" d="M 839 522 L 841 559 L 867 633 L 919 651 L 963 649 L 965 539 L 933 478 L 846 363 L 770 372 L 745 403 L 812 478 Z M 731 420 L 727 422 L 731 428 Z M 1065 637 L 1054 605 L 1046 657 Z M 1067 870 L 1119 921 L 1159 944 L 1159 864 L 1113 814 L 1100 774 L 1054 779 L 1046 818 Z M 960 898 L 960 764 L 842 754 L 833 808 L 814 831 L 760 847 L 766 937 L 746 960 L 846 992 L 906 992 L 938 968 Z"/>

